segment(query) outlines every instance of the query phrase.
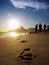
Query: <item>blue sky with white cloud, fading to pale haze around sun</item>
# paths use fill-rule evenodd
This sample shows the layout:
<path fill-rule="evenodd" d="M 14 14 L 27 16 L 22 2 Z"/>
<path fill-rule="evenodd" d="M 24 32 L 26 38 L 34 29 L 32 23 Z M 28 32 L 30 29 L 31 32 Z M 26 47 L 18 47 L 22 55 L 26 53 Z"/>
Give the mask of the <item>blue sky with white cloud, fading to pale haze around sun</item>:
<path fill-rule="evenodd" d="M 0 31 L 8 30 L 10 18 L 24 27 L 49 24 L 49 0 L 0 0 Z"/>

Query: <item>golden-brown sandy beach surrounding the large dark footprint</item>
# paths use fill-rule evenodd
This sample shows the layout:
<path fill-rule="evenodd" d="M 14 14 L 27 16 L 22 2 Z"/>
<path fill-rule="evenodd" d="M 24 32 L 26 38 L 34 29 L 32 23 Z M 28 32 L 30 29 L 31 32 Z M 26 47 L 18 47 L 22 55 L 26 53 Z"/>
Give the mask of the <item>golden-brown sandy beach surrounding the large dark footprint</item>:
<path fill-rule="evenodd" d="M 26 42 L 22 43 L 22 40 Z M 30 48 L 36 55 L 30 64 L 18 59 L 25 48 Z M 0 38 L 0 65 L 49 65 L 49 34 Z"/>

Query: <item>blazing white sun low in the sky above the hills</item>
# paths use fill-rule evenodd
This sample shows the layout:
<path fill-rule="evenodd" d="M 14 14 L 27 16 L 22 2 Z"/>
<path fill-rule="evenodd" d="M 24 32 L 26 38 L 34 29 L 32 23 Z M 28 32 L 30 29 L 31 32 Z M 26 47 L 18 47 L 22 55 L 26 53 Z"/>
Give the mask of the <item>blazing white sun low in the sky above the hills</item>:
<path fill-rule="evenodd" d="M 8 28 L 10 30 L 16 29 L 18 27 L 20 27 L 19 20 L 15 19 L 15 18 L 11 18 L 8 20 Z"/>

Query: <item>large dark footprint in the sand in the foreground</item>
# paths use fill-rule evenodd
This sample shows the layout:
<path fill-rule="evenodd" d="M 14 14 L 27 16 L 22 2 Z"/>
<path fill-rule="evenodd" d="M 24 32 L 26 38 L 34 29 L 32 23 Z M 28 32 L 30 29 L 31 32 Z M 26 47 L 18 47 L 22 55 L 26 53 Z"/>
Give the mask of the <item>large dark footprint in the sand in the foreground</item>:
<path fill-rule="evenodd" d="M 30 49 L 30 48 L 25 48 L 25 49 L 20 53 L 20 55 L 18 56 L 18 58 L 19 58 L 21 61 L 28 62 L 28 63 L 31 62 L 34 57 L 36 57 L 36 55 L 33 55 L 32 49 Z"/>

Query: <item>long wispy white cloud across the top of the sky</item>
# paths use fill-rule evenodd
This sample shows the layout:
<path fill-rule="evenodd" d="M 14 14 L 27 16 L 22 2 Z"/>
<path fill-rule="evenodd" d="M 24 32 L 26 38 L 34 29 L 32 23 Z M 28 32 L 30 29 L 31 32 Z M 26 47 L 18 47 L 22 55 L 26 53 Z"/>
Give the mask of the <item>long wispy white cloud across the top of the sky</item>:
<path fill-rule="evenodd" d="M 43 2 L 31 1 L 31 0 L 10 0 L 11 4 L 15 8 L 26 9 L 27 7 L 34 8 L 35 10 L 46 10 L 49 5 Z"/>

